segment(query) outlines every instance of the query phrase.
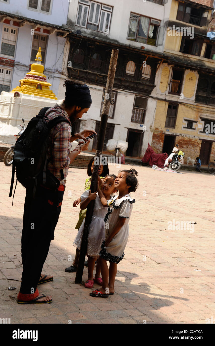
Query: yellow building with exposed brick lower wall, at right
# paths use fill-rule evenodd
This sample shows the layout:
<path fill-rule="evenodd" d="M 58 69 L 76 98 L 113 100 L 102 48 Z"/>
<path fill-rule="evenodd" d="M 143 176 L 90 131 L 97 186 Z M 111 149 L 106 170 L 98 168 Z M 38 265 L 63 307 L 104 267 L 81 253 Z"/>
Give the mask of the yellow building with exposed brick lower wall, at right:
<path fill-rule="evenodd" d="M 163 61 L 151 96 L 157 99 L 152 147 L 207 165 L 215 158 L 215 31 L 213 1 L 172 0 Z M 184 33 L 184 35 L 183 35 Z"/>

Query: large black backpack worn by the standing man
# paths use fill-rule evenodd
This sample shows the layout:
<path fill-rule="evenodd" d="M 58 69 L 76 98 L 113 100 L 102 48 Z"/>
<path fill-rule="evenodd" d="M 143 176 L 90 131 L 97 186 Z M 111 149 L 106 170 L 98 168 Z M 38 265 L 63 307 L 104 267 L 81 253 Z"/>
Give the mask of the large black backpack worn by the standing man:
<path fill-rule="evenodd" d="M 51 160 L 47 161 L 49 131 L 59 122 L 66 121 L 69 125 L 71 123 L 63 116 L 55 117 L 48 122 L 44 121 L 48 119 L 45 113 L 49 108 L 42 108 L 39 114 L 29 121 L 27 128 L 16 141 L 13 149 L 14 156 L 9 197 L 12 196 L 15 169 L 17 176 L 16 186 L 17 181 L 19 181 L 26 189 L 31 188 L 33 198 L 35 198 L 38 185 L 42 185 L 52 191 L 57 191 L 60 185 L 59 180 L 46 168 L 47 163 Z M 74 136 L 72 130 L 71 135 Z M 63 170 L 60 170 L 60 174 L 61 179 L 64 179 Z"/>

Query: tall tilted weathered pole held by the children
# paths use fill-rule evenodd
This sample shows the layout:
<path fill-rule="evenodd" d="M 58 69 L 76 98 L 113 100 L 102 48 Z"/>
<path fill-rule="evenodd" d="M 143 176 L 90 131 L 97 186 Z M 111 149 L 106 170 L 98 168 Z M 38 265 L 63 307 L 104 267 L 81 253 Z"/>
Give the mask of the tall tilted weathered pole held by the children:
<path fill-rule="evenodd" d="M 111 95 L 112 95 L 118 53 L 119 53 L 118 49 L 112 49 L 111 60 L 110 60 L 109 71 L 108 71 L 108 79 L 107 79 L 106 89 L 105 89 L 104 104 L 102 108 L 99 135 L 97 139 L 97 147 L 95 152 L 95 157 L 98 157 L 97 160 L 99 161 L 100 161 L 100 157 L 101 157 L 100 155 L 102 155 L 103 146 L 104 146 L 104 136 L 105 136 L 105 131 L 106 131 L 107 122 L 108 122 L 108 115 L 109 115 L 109 109 L 111 104 Z M 95 163 L 93 167 L 93 173 L 92 173 L 91 185 L 90 185 L 92 193 L 95 192 L 97 189 L 97 181 L 99 176 L 99 165 L 96 165 Z M 77 272 L 75 276 L 75 283 L 81 283 L 82 281 L 84 261 L 85 261 L 86 251 L 87 251 L 88 227 L 91 223 L 91 219 L 93 215 L 93 207 L 94 207 L 94 201 L 91 201 L 88 204 L 87 211 L 86 211 L 83 237 L 82 237 L 81 248 L 80 248 L 80 253 L 78 258 Z"/>

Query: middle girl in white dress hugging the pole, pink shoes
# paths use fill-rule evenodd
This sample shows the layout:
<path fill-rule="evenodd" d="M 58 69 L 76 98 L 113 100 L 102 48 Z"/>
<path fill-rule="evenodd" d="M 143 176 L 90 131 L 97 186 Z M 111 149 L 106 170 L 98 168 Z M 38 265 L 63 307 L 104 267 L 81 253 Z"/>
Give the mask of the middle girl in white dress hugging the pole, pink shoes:
<path fill-rule="evenodd" d="M 114 180 L 116 176 L 114 174 L 107 175 L 101 184 L 101 191 L 106 200 L 111 199 L 112 193 L 116 192 L 116 188 L 114 187 Z M 101 245 L 103 240 L 105 239 L 105 222 L 104 217 L 106 215 L 107 209 L 103 207 L 99 195 L 97 192 L 91 193 L 91 190 L 86 190 L 81 195 L 81 209 L 85 209 L 90 201 L 95 200 L 94 208 L 93 208 L 93 216 L 92 221 L 88 228 L 88 238 L 87 238 L 87 257 L 88 257 L 88 280 L 85 282 L 86 288 L 92 288 L 94 281 L 100 285 L 102 285 L 102 279 L 100 277 L 100 259 L 99 252 L 101 250 Z M 81 227 L 78 230 L 78 234 L 74 240 L 73 245 L 77 248 L 81 248 L 82 236 L 84 229 L 84 220 L 82 222 Z M 97 258 L 96 263 L 96 273 L 95 278 L 93 279 L 93 269 L 95 265 L 95 260 Z"/>

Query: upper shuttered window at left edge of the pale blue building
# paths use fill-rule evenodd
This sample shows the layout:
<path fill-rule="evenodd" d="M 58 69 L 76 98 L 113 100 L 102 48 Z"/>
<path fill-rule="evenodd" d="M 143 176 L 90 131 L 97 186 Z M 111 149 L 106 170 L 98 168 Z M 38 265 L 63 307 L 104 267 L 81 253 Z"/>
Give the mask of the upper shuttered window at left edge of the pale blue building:
<path fill-rule="evenodd" d="M 10 26 L 3 26 L 2 41 L 1 41 L 1 54 L 7 56 L 14 56 L 17 38 L 17 29 Z"/>

